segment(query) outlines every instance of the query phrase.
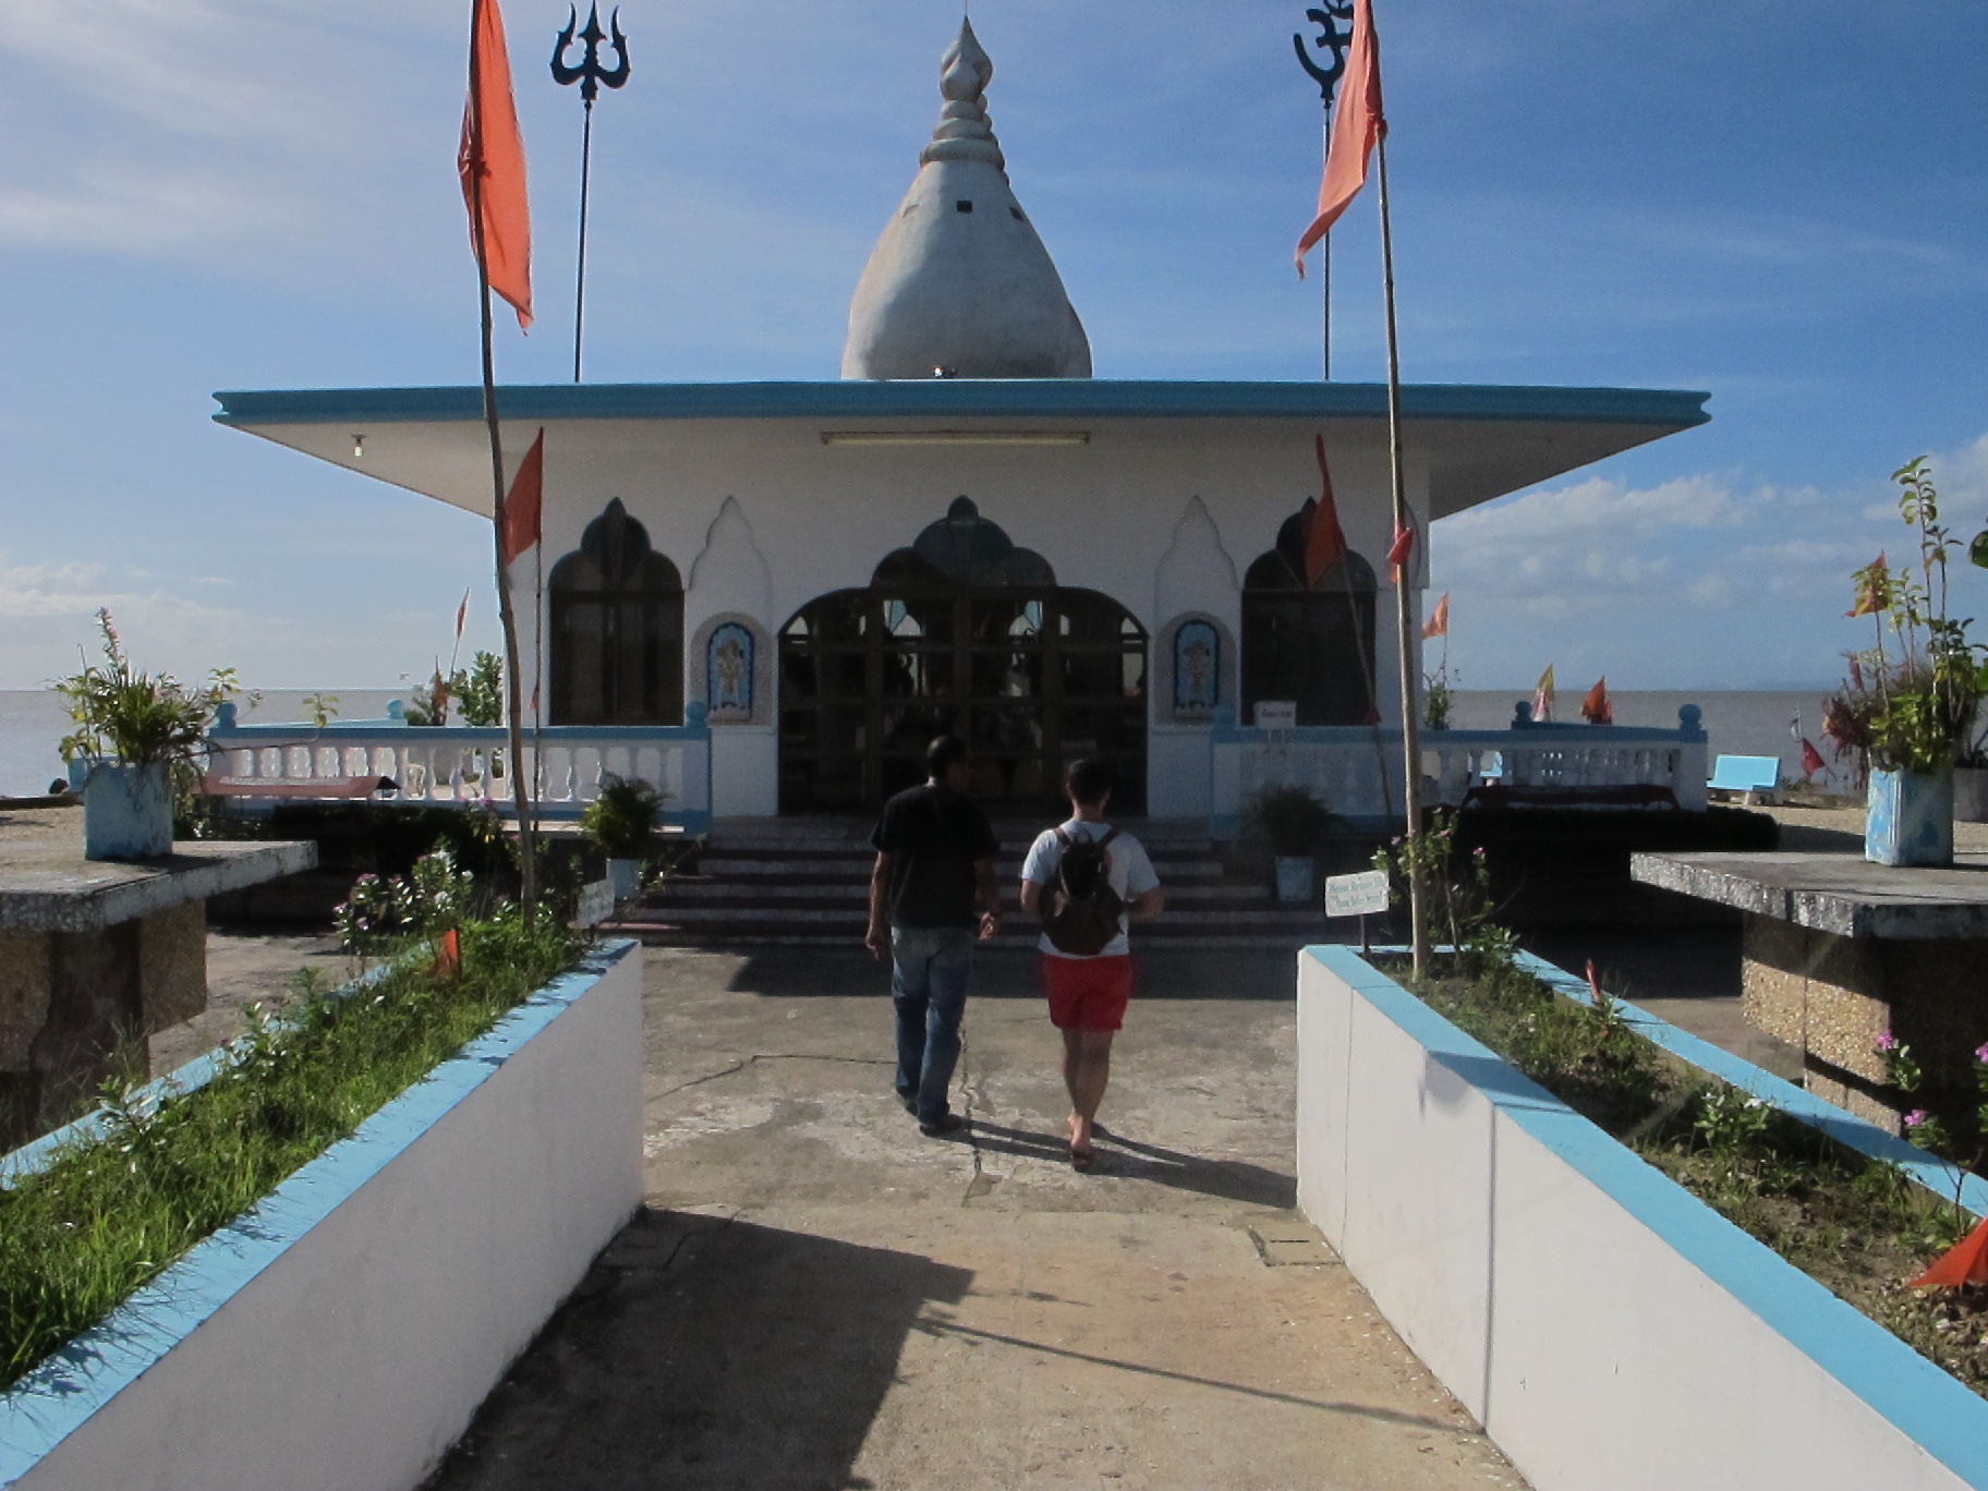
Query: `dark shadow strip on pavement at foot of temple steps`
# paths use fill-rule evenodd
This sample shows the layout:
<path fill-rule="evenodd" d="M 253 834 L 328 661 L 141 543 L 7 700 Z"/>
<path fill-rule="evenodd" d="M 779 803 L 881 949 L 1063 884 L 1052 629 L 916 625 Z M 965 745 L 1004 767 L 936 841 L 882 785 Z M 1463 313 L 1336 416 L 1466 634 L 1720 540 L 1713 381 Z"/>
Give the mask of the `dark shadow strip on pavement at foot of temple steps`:
<path fill-rule="evenodd" d="M 1141 1000 L 1294 1000 L 1296 950 L 1137 948 Z M 974 952 L 972 998 L 1040 1000 L 1034 948 Z M 861 948 L 755 948 L 732 974 L 734 990 L 763 998 L 863 998 L 891 992 L 891 964 Z"/>

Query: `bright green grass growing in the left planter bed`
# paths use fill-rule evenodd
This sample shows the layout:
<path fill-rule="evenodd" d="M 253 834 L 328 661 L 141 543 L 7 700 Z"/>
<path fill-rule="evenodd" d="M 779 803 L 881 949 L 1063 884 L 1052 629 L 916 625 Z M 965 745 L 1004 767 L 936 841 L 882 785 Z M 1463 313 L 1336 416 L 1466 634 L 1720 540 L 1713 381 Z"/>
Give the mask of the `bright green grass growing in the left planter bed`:
<path fill-rule="evenodd" d="M 0 1386 L 111 1314 L 193 1244 L 348 1137 L 429 1068 L 571 968 L 575 936 L 511 912 L 461 928 L 459 976 L 415 938 L 352 992 L 256 1014 L 211 1083 L 107 1095 L 101 1141 L 0 1191 Z"/>

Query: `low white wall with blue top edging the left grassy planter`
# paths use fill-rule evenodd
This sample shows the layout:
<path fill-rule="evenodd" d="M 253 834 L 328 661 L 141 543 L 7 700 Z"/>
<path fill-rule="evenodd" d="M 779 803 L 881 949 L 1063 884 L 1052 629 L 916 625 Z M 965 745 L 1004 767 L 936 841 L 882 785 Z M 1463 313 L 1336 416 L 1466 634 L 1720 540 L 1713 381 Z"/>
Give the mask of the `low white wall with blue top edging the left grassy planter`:
<path fill-rule="evenodd" d="M 14 1455 L 66 1429 L 0 1483 L 417 1485 L 642 1201 L 642 960 L 604 956 L 0 1400 Z M 175 1314 L 183 1338 L 129 1360 Z M 58 1421 L 74 1380 L 111 1378 L 129 1380 Z"/>

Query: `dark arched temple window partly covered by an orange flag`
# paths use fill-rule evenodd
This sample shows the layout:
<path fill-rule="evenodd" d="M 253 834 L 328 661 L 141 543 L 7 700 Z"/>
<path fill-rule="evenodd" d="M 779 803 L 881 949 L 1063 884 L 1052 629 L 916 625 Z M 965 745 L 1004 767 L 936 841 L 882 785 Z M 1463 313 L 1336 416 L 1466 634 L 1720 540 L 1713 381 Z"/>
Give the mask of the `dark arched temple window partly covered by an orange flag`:
<path fill-rule="evenodd" d="M 1258 700 L 1296 700 L 1300 726 L 1360 726 L 1374 702 L 1374 567 L 1352 549 L 1304 584 L 1312 503 L 1242 577 L 1242 722 Z"/>

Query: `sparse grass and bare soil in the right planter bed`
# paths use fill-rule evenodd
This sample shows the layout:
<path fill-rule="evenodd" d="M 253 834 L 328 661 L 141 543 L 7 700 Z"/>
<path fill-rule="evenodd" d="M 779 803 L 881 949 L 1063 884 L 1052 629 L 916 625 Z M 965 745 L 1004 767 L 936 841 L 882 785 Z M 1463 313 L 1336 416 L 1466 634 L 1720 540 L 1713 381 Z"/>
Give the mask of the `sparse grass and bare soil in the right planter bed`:
<path fill-rule="evenodd" d="M 1495 958 L 1404 988 L 1736 1227 L 1988 1396 L 1988 1290 L 1905 1286 L 1974 1225 L 1905 1171 L 1845 1149 L 1638 1036 L 1612 1002 L 1580 1004 Z"/>

